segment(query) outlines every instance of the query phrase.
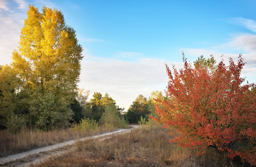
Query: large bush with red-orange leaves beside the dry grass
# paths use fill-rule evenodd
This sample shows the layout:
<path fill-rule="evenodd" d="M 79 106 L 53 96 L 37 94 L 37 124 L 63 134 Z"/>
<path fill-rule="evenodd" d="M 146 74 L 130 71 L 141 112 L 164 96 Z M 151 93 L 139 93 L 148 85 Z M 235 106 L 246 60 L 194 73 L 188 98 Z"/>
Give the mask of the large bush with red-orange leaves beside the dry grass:
<path fill-rule="evenodd" d="M 183 147 L 208 147 L 241 157 L 256 165 L 256 91 L 253 84 L 242 84 L 241 55 L 237 64 L 199 58 L 195 66 L 183 57 L 184 67 L 173 72 L 167 67 L 167 100 L 158 100 L 153 119 L 171 127 L 172 142 Z"/>

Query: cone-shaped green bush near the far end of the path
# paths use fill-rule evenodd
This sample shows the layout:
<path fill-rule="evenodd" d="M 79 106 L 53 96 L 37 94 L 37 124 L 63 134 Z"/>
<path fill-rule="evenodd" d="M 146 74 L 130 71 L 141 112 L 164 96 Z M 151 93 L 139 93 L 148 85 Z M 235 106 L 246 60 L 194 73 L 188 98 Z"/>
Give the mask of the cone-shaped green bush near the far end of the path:
<path fill-rule="evenodd" d="M 127 122 L 121 116 L 114 104 L 108 104 L 103 116 L 100 118 L 100 124 L 107 127 L 127 127 Z"/>

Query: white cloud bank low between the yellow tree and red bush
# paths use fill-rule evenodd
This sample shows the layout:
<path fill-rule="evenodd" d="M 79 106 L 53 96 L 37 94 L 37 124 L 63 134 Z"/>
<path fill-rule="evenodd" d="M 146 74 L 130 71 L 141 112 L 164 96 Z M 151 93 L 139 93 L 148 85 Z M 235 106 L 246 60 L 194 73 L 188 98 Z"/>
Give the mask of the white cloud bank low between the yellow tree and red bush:
<path fill-rule="evenodd" d="M 88 57 L 82 61 L 80 88 L 90 90 L 91 93 L 109 93 L 116 104 L 126 110 L 138 95 L 149 97 L 153 90 L 163 91 L 166 88 L 168 77 L 165 63 L 179 64 L 149 58 L 126 62 Z"/>

